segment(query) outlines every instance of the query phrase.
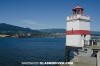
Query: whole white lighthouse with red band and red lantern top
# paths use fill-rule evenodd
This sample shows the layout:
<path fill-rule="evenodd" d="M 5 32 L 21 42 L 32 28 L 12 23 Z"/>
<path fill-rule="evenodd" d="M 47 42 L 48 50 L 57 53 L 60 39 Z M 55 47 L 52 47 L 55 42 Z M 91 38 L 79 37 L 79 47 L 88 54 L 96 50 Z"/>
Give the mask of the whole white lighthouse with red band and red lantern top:
<path fill-rule="evenodd" d="M 72 9 L 73 15 L 67 16 L 66 26 L 66 59 L 69 61 L 71 51 L 78 51 L 90 40 L 90 17 L 84 14 L 84 9 L 77 5 Z"/>

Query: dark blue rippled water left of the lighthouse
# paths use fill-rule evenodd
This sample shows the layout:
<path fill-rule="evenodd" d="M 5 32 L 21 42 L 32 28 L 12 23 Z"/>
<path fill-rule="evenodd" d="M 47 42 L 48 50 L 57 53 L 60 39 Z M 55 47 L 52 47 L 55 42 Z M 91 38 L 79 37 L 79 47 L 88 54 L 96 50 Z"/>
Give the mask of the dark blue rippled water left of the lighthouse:
<path fill-rule="evenodd" d="M 0 66 L 64 61 L 65 38 L 0 38 Z"/>

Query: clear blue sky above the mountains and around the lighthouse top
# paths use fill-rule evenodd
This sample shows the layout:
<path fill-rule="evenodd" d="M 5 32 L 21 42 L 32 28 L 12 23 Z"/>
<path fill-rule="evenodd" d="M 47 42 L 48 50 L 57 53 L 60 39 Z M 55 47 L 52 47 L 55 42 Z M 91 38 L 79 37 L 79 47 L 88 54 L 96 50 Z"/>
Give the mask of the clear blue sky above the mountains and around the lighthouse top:
<path fill-rule="evenodd" d="M 66 28 L 66 17 L 79 4 L 100 31 L 100 0 L 0 0 L 0 23 L 31 29 Z"/>

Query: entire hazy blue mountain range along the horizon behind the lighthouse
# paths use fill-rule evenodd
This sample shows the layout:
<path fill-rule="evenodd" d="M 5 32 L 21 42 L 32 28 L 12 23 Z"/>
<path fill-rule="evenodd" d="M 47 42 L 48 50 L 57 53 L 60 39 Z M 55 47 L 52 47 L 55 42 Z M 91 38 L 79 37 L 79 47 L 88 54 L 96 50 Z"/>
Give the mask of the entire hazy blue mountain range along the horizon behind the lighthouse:
<path fill-rule="evenodd" d="M 6 23 L 0 23 L 0 33 L 66 33 L 66 29 L 40 29 L 32 30 L 30 28 L 23 28 Z M 100 35 L 100 31 L 91 31 L 91 35 Z"/>

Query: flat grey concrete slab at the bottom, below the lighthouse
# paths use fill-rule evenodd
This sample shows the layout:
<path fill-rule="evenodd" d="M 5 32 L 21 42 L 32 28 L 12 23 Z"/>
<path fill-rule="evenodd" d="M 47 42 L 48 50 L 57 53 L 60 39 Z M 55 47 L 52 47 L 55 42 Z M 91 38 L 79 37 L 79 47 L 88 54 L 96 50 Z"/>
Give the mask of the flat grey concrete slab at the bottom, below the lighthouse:
<path fill-rule="evenodd" d="M 96 66 L 95 57 L 76 56 L 72 61 L 74 64 L 70 66 Z"/>

